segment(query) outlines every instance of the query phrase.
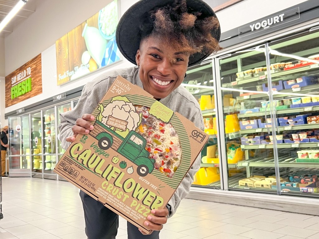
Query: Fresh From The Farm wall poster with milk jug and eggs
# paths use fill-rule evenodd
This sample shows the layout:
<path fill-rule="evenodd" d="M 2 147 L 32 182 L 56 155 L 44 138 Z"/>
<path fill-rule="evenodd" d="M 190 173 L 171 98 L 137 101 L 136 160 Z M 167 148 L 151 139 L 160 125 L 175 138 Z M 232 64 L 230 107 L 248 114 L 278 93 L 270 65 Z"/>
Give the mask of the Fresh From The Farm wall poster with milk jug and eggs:
<path fill-rule="evenodd" d="M 115 42 L 119 9 L 114 0 L 56 41 L 57 85 L 121 59 Z"/>

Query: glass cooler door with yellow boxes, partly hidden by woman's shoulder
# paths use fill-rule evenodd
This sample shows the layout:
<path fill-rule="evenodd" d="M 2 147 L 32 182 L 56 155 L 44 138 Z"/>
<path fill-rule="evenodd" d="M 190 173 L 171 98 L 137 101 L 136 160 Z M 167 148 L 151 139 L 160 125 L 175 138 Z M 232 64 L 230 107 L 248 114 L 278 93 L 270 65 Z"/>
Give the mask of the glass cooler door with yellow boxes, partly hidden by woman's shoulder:
<path fill-rule="evenodd" d="M 210 135 L 201 153 L 201 168 L 193 185 L 221 188 L 217 127 L 214 125 L 215 97 L 212 61 L 188 69 L 183 86 L 198 100 L 204 117 L 205 132 Z"/>

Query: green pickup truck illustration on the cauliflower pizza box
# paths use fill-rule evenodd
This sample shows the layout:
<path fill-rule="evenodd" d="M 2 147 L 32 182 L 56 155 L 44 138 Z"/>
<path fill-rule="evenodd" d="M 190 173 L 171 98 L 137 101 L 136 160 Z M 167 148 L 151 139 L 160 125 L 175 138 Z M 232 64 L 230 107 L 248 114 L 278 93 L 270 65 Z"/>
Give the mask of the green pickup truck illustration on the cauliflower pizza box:
<path fill-rule="evenodd" d="M 136 127 L 128 128 L 127 119 L 119 119 L 120 117 L 115 118 L 112 115 L 108 115 L 107 118 L 103 117 L 102 113 L 106 107 L 104 108 L 102 104 L 98 107 L 100 113 L 93 125 L 94 129 L 91 130 L 90 134 L 98 140 L 99 147 L 103 150 L 112 148 L 135 163 L 139 176 L 144 177 L 148 173 L 152 173 L 155 160 L 149 158 L 150 153 L 145 149 L 146 140 L 134 131 Z M 140 122 L 135 125 L 137 126 L 139 123 Z"/>

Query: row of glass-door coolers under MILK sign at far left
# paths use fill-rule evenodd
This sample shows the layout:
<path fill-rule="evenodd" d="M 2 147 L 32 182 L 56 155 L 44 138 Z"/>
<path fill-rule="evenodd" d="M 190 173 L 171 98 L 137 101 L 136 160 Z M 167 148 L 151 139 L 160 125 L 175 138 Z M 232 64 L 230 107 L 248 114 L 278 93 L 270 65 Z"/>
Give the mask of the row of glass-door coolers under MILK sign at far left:
<path fill-rule="evenodd" d="M 65 150 L 58 140 L 60 113 L 70 111 L 78 99 L 26 115 L 9 117 L 11 177 L 62 179 L 53 169 Z M 18 131 L 17 131 L 18 129 Z"/>

